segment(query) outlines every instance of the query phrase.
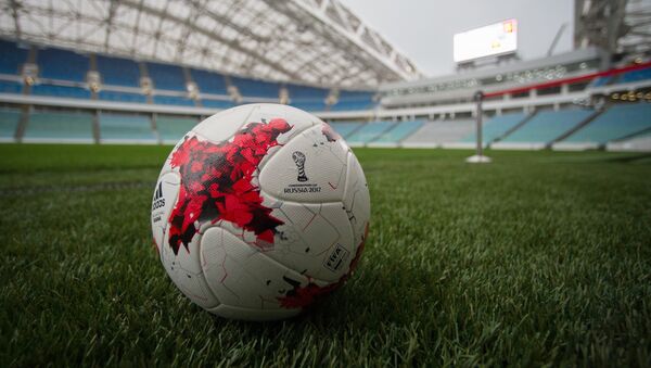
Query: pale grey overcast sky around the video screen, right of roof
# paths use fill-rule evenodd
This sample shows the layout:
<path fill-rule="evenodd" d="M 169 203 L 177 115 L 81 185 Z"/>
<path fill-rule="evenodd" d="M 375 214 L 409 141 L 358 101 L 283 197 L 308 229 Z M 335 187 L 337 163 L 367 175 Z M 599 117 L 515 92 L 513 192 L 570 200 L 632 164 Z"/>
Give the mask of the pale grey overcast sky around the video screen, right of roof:
<path fill-rule="evenodd" d="M 452 36 L 518 18 L 519 55 L 544 56 L 559 27 L 567 28 L 554 53 L 572 49 L 572 0 L 341 0 L 367 25 L 410 58 L 427 76 L 451 74 Z"/>

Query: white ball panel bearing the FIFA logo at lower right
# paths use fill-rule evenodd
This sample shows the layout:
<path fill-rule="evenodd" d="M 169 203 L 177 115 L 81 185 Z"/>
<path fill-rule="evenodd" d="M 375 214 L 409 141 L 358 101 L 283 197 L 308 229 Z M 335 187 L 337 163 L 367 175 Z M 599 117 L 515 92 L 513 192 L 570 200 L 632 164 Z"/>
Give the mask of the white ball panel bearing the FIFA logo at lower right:
<path fill-rule="evenodd" d="M 339 281 L 348 271 L 357 244 L 342 203 L 279 201 L 273 215 L 284 225 L 265 254 L 323 283 Z"/>

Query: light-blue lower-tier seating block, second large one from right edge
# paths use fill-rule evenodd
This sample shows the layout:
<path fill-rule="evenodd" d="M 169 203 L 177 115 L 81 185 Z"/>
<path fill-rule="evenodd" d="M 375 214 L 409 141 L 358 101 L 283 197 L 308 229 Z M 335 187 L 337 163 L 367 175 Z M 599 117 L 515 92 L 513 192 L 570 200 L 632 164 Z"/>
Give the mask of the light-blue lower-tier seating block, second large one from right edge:
<path fill-rule="evenodd" d="M 577 109 L 540 111 L 523 126 L 490 147 L 496 149 L 542 149 L 592 114 L 595 114 L 592 110 Z"/>

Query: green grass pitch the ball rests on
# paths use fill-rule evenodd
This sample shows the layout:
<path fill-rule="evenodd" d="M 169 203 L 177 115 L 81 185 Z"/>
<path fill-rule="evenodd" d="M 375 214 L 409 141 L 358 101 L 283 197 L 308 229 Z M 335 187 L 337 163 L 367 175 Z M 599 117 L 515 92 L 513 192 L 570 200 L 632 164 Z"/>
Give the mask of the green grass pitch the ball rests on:
<path fill-rule="evenodd" d="M 297 318 L 224 320 L 151 248 L 169 147 L 0 145 L 0 366 L 651 365 L 651 158 L 356 150 L 371 231 Z"/>

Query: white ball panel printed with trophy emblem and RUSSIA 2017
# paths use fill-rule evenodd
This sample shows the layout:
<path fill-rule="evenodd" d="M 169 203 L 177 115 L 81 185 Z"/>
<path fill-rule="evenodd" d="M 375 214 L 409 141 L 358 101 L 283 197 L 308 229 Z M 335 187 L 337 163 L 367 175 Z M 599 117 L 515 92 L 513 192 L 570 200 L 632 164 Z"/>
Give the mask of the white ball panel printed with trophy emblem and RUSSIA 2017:
<path fill-rule="evenodd" d="M 329 140 L 323 124 L 290 140 L 260 169 L 266 193 L 295 202 L 336 202 L 343 199 L 347 148 Z"/>

